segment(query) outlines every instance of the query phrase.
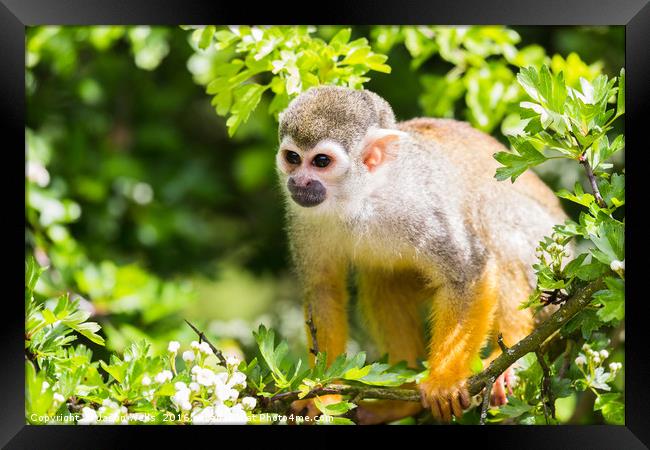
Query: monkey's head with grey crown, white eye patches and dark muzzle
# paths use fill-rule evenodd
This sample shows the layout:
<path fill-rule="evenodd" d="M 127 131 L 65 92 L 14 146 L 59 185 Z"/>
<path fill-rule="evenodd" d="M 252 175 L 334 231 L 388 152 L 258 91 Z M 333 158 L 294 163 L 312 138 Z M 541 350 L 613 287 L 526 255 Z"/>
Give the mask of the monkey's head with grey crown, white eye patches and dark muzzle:
<path fill-rule="evenodd" d="M 311 88 L 280 114 L 280 179 L 301 207 L 340 204 L 389 159 L 389 143 L 401 134 L 393 110 L 377 94 Z"/>

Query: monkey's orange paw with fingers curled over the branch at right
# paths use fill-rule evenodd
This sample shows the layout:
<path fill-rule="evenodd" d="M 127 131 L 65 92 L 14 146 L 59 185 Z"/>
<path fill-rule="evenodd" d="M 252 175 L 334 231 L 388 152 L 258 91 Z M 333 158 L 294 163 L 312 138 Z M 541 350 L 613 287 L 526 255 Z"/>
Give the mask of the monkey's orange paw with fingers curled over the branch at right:
<path fill-rule="evenodd" d="M 431 376 L 420 382 L 422 404 L 431 409 L 433 418 L 438 421 L 451 422 L 451 416 L 459 418 L 463 409 L 469 408 L 470 396 L 465 387 L 465 380 L 441 383 Z"/>

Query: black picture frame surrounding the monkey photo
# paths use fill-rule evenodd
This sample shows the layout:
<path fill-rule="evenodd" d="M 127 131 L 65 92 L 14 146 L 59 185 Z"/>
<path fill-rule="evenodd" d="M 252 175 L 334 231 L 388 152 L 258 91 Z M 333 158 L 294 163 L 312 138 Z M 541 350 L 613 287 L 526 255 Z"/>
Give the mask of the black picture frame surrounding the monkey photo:
<path fill-rule="evenodd" d="M 249 446 L 311 446 L 313 441 L 291 441 L 276 433 L 324 433 L 323 443 L 344 445 L 348 437 L 376 437 L 376 427 L 151 427 L 151 426 L 27 426 L 24 414 L 24 322 L 22 287 L 24 273 L 18 254 L 21 237 L 19 210 L 22 203 L 16 192 L 24 189 L 25 141 L 25 26 L 60 24 L 198 24 L 198 23 L 348 23 L 348 24 L 506 24 L 506 25 L 624 25 L 626 30 L 626 119 L 627 154 L 632 163 L 626 165 L 627 292 L 626 298 L 626 411 L 624 426 L 443 426 L 383 427 L 381 431 L 408 436 L 406 445 L 428 445 L 419 438 L 432 439 L 430 445 L 473 444 L 477 448 L 589 448 L 637 449 L 650 445 L 648 405 L 650 395 L 650 352 L 647 319 L 643 313 L 645 298 L 635 296 L 641 276 L 643 234 L 639 227 L 642 194 L 639 182 L 643 166 L 637 161 L 650 149 L 643 139 L 647 127 L 643 117 L 648 114 L 650 100 L 650 0 L 454 0 L 435 2 L 402 0 L 380 3 L 372 0 L 348 2 L 303 3 L 283 6 L 277 2 L 264 5 L 179 0 L 0 0 L 0 111 L 2 112 L 3 157 L 11 157 L 4 166 L 2 193 L 16 204 L 16 211 L 3 214 L 2 222 L 10 235 L 3 247 L 8 267 L 3 270 L 3 324 L 0 335 L 4 349 L 0 368 L 0 389 L 4 401 L 0 406 L 0 444 L 5 448 L 130 448 L 138 437 L 183 445 L 192 442 L 224 443 L 224 436 Z M 295 3 L 294 3 L 295 5 Z M 7 139 L 11 137 L 14 139 Z M 9 144 L 13 142 L 13 144 Z M 22 143 L 22 147 L 21 147 Z M 23 165 L 24 167 L 24 165 Z M 24 204 L 23 204 L 24 206 Z M 12 214 L 13 212 L 13 214 Z M 630 228 L 631 227 L 631 228 Z M 14 236 L 15 235 L 15 236 Z M 14 255 L 15 253 L 15 255 Z M 21 312 L 22 311 L 22 312 Z M 298 431 L 299 429 L 299 431 Z M 253 434 L 250 434 L 254 432 Z M 269 433 L 268 436 L 263 436 Z M 344 433 L 343 436 L 337 436 Z M 368 433 L 368 435 L 366 435 Z M 420 436 L 417 438 L 413 433 Z M 203 436 L 198 436 L 199 434 Z M 210 436 L 206 436 L 209 434 Z M 260 436 L 260 434 L 262 436 Z M 445 434 L 446 436 L 443 436 Z M 252 436 L 255 437 L 253 438 Z M 396 436 L 397 437 L 397 436 Z M 258 440 L 261 438 L 262 440 Z M 399 437 L 397 437 L 399 439 Z M 207 439 L 207 440 L 206 440 Z M 417 439 L 417 441 L 416 441 Z M 433 442 L 435 440 L 435 442 Z M 370 442 L 370 441 L 368 441 Z M 205 445 L 205 444 L 203 444 Z"/>

